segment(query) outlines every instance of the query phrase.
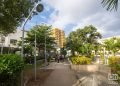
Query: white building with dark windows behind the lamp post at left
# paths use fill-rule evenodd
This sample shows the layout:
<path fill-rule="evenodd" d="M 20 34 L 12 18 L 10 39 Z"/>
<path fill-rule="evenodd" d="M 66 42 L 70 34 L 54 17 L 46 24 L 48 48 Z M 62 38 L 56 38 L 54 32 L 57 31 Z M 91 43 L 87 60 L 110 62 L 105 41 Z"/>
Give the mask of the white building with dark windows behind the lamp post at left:
<path fill-rule="evenodd" d="M 24 37 L 27 32 L 25 31 Z M 8 34 L 7 36 L 0 36 L 0 47 L 14 47 L 18 48 L 17 42 L 22 38 L 22 30 L 17 29 L 14 33 Z"/>

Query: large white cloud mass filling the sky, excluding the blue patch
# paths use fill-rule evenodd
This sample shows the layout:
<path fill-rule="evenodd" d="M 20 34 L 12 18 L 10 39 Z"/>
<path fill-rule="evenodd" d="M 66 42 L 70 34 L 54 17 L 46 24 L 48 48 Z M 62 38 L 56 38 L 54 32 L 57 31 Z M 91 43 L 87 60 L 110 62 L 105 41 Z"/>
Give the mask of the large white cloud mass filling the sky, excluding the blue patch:
<path fill-rule="evenodd" d="M 103 35 L 106 34 L 105 36 L 113 35 L 113 29 L 120 32 L 119 10 L 118 12 L 106 11 L 101 5 L 101 0 L 44 0 L 44 2 L 55 10 L 48 21 L 54 27 L 65 29 L 69 24 L 77 24 L 72 29 L 75 30 L 92 24 Z"/>

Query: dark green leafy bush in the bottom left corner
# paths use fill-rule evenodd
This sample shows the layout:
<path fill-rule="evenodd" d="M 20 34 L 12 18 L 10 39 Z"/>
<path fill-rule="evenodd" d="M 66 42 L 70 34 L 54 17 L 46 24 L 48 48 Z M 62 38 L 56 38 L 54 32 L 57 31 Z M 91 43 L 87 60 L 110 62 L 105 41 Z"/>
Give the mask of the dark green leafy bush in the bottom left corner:
<path fill-rule="evenodd" d="M 0 55 L 0 86 L 18 86 L 23 65 L 19 55 Z"/>

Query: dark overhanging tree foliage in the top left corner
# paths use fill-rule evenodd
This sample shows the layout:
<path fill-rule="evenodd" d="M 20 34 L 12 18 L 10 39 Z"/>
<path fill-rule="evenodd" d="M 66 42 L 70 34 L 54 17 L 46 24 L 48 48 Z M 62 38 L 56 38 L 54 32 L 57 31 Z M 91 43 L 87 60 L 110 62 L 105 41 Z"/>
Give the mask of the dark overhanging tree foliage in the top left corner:
<path fill-rule="evenodd" d="M 15 31 L 39 0 L 0 0 L 0 34 Z"/>

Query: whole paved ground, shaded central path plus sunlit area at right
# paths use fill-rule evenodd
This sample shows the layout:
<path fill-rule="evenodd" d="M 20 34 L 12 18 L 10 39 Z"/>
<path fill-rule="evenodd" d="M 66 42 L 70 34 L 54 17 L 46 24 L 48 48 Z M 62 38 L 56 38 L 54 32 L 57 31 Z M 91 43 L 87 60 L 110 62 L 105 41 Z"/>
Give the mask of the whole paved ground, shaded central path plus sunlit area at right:
<path fill-rule="evenodd" d="M 75 72 L 70 69 L 70 65 L 66 62 L 53 62 L 44 69 L 53 69 L 53 72 L 41 86 L 120 86 L 114 81 L 109 81 L 108 75 L 105 73 Z"/>

